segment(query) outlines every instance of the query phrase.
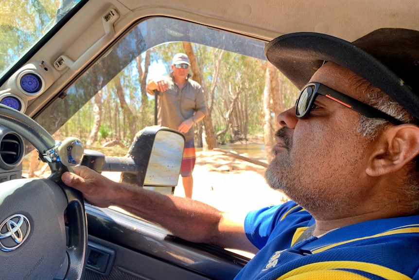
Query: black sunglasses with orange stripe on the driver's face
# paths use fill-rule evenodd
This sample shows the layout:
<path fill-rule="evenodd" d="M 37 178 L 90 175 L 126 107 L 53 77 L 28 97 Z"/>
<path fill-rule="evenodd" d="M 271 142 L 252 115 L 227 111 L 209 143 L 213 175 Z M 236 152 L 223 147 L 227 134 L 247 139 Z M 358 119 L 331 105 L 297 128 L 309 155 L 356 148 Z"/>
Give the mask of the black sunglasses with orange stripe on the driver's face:
<path fill-rule="evenodd" d="M 395 117 L 392 117 L 346 94 L 339 93 L 323 84 L 315 83 L 315 82 L 308 83 L 299 93 L 297 102 L 296 102 L 296 117 L 297 118 L 303 118 L 303 117 L 308 116 L 313 106 L 314 99 L 319 94 L 325 97 L 328 97 L 336 102 L 339 102 L 340 104 L 356 112 L 359 112 L 369 118 L 384 119 L 395 125 L 403 124 L 402 121 L 396 119 Z"/>

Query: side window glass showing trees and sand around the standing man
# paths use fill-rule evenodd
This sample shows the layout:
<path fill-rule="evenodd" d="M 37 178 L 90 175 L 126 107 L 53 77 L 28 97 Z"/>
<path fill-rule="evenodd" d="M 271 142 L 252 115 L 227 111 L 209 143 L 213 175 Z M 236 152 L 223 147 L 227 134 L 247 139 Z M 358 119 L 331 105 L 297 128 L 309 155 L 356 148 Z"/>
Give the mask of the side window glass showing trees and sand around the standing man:
<path fill-rule="evenodd" d="M 147 19 L 127 32 L 35 120 L 57 140 L 75 136 L 86 149 L 125 156 L 135 134 L 155 124 L 155 97 L 146 93 L 147 80 L 168 75 L 172 57 L 190 48 L 195 57 L 192 66 L 199 73 L 192 78 L 201 81 L 210 112 L 207 117 L 219 145 L 218 150 L 208 150 L 202 140 L 206 134 L 203 122 L 195 125 L 192 198 L 222 210 L 278 204 L 286 197 L 271 190 L 263 178 L 267 164 L 263 93 L 268 67 L 264 45 L 190 22 Z M 283 110 L 293 105 L 297 89 L 280 73 L 277 75 L 281 107 L 277 109 Z M 274 128 L 275 113 L 270 117 Z M 44 170 L 48 168 L 34 168 L 30 158 L 26 157 L 26 172 L 46 176 Z M 118 172 L 104 175 L 120 179 Z M 181 181 L 175 195 L 184 195 Z M 155 190 L 171 192 L 172 188 Z"/>

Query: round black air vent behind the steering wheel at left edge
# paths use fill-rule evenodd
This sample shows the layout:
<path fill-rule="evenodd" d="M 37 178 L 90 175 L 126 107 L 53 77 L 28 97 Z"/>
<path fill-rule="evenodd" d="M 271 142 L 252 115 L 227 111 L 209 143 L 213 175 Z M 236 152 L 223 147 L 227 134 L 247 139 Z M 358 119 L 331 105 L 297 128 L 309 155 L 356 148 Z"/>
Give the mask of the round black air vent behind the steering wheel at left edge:
<path fill-rule="evenodd" d="M 22 138 L 14 132 L 6 132 L 0 139 L 0 168 L 10 170 L 17 167 L 23 159 L 24 146 Z M 6 132 L 6 133 L 5 133 Z"/>

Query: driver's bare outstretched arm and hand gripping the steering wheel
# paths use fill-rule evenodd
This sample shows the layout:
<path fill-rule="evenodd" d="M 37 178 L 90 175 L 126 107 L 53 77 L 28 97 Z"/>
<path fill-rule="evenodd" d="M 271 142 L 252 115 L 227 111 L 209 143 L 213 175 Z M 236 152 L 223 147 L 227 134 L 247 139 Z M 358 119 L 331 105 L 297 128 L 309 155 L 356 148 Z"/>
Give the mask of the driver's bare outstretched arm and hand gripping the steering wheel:
<path fill-rule="evenodd" d="M 121 207 L 185 240 L 252 253 L 258 251 L 244 233 L 245 213 L 225 213 L 196 200 L 116 183 L 84 166 L 74 167 L 73 173 L 65 172 L 62 180 L 80 190 L 93 205 Z"/>

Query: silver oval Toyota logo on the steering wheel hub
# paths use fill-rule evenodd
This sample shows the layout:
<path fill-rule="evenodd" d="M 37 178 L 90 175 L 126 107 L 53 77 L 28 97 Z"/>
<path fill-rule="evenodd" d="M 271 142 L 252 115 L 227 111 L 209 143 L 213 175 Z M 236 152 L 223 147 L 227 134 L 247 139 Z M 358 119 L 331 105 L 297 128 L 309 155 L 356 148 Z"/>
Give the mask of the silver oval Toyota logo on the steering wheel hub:
<path fill-rule="evenodd" d="M 22 214 L 12 215 L 0 224 L 0 250 L 10 252 L 16 250 L 31 231 L 28 218 Z"/>

